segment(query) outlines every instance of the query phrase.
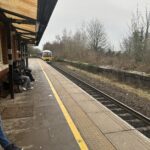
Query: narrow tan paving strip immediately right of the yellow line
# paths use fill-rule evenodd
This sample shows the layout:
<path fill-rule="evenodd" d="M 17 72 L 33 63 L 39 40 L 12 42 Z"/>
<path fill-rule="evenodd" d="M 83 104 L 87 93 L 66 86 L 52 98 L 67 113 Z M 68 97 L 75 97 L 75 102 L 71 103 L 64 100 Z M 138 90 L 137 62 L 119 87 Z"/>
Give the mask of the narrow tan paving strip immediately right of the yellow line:
<path fill-rule="evenodd" d="M 43 66 L 43 67 L 45 67 L 45 66 Z M 47 66 L 47 67 L 49 67 L 49 66 Z M 45 71 L 48 74 L 48 77 L 50 77 L 53 85 L 54 86 L 57 85 L 55 83 L 59 82 L 59 75 L 55 74 L 55 76 L 53 76 L 52 74 L 50 74 L 50 72 L 48 72 L 48 69 L 46 69 L 46 67 L 45 67 Z M 55 70 L 53 70 L 53 71 L 55 71 Z M 56 76 L 58 78 L 55 78 Z M 64 79 L 64 80 L 66 80 L 66 79 Z M 59 88 L 60 87 L 62 87 L 64 90 L 66 90 L 61 83 L 59 84 Z M 76 87 L 78 87 L 78 86 L 76 86 Z M 56 90 L 57 90 L 57 88 L 56 88 Z M 103 135 L 103 133 L 100 132 L 100 130 L 93 124 L 93 122 L 89 119 L 87 114 L 81 109 L 81 107 L 76 102 L 76 100 L 73 99 L 73 97 L 67 91 L 66 91 L 67 96 L 65 96 L 65 97 L 59 93 L 59 90 L 57 90 L 57 92 L 58 92 L 59 96 L 61 97 L 63 104 L 66 106 L 69 114 L 71 115 L 75 125 L 79 129 L 82 137 L 84 138 L 85 142 L 87 143 L 89 149 L 90 150 L 100 150 L 100 149 L 115 150 L 115 147 L 110 143 L 109 140 L 107 140 L 107 138 Z M 80 91 L 80 92 L 82 92 L 82 91 Z M 70 91 L 70 93 L 71 93 L 71 91 Z M 66 99 L 66 97 L 67 97 L 67 99 Z M 76 95 L 76 98 L 77 98 L 77 95 Z"/>

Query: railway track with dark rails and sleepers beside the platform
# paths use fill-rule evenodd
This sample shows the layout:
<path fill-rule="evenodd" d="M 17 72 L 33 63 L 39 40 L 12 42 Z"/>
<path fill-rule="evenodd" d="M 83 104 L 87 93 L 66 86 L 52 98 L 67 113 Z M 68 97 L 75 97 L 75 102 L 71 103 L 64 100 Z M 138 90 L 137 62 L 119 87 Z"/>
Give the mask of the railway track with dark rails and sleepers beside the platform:
<path fill-rule="evenodd" d="M 88 94 L 93 96 L 96 100 L 98 100 L 101 104 L 105 107 L 110 109 L 112 112 L 117 114 L 123 120 L 128 122 L 146 137 L 150 138 L 150 118 L 144 116 L 143 114 L 135 111 L 134 109 L 128 107 L 127 105 L 121 103 L 117 99 L 109 96 L 108 94 L 100 91 L 99 89 L 91 86 L 90 84 L 86 83 L 85 81 L 75 77 L 74 75 L 69 74 L 62 68 L 58 67 L 57 65 L 51 64 L 53 68 L 58 70 L 60 73 L 65 75 L 83 90 L 85 90 Z"/>

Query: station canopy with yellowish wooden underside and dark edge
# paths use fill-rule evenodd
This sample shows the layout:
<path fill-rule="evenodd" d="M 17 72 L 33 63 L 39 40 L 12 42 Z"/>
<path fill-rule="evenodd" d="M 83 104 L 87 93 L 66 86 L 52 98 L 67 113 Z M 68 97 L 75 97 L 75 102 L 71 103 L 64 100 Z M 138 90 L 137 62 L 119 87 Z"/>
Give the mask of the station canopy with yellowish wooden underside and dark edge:
<path fill-rule="evenodd" d="M 2 12 L 21 38 L 40 42 L 57 0 L 0 0 Z"/>

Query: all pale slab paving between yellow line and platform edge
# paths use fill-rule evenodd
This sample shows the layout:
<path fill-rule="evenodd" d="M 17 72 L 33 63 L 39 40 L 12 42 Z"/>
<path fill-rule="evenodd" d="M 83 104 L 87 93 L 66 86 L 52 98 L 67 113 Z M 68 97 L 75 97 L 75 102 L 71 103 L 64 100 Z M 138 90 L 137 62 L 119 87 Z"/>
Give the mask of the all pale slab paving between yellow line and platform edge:
<path fill-rule="evenodd" d="M 74 83 L 72 84 L 72 86 L 74 86 L 72 88 L 72 86 L 69 85 L 70 80 L 67 78 L 64 78 L 63 81 L 60 80 L 59 78 L 62 75 L 55 69 L 49 65 L 45 65 L 41 61 L 40 63 L 43 65 L 54 87 L 57 89 L 57 85 L 59 85 L 60 91 L 57 90 L 57 92 L 90 149 L 132 150 L 137 147 L 138 149 L 149 150 L 150 141 L 148 138 L 144 137 L 121 118 L 113 114 L 105 106 L 93 100 L 91 96 L 74 85 Z M 69 82 L 69 84 L 67 84 L 67 82 Z M 70 90 L 69 86 L 73 91 Z M 78 89 L 74 90 L 74 88 Z M 62 93 L 65 93 L 65 96 L 62 95 Z M 93 106 L 93 103 L 95 103 L 94 105 L 98 107 L 99 111 Z"/>

